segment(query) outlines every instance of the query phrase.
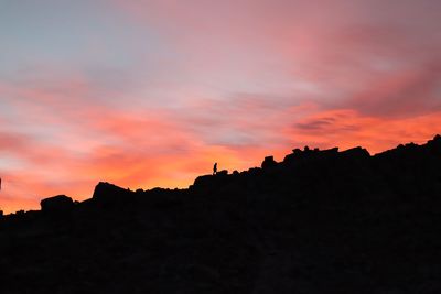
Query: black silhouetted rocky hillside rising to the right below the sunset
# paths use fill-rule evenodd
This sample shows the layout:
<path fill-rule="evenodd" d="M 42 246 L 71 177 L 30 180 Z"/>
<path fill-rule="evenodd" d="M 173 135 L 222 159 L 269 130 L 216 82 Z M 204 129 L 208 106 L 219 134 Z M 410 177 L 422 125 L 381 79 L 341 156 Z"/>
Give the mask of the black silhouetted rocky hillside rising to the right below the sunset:
<path fill-rule="evenodd" d="M 1 293 L 441 293 L 441 138 L 0 220 Z"/>

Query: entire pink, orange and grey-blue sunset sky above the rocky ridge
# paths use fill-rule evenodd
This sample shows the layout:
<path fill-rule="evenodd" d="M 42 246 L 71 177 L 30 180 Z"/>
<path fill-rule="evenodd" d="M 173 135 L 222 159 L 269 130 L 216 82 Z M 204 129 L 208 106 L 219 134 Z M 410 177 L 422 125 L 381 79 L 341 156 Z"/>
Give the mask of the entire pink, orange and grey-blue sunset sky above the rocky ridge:
<path fill-rule="evenodd" d="M 441 133 L 438 0 L 0 0 L 0 209 Z"/>

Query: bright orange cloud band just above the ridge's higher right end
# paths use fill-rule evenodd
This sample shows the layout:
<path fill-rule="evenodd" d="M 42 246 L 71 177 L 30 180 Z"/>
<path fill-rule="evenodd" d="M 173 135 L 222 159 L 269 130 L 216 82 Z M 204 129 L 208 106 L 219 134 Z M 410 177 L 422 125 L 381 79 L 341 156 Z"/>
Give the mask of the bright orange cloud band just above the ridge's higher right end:
<path fill-rule="evenodd" d="M 329 110 L 311 115 L 286 130 L 297 144 L 322 149 L 362 145 L 370 153 L 396 148 L 400 143 L 423 143 L 441 130 L 441 112 L 411 118 L 378 118 L 353 109 Z"/>

